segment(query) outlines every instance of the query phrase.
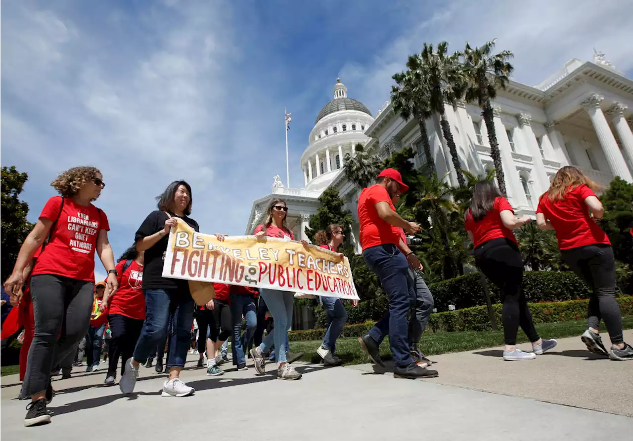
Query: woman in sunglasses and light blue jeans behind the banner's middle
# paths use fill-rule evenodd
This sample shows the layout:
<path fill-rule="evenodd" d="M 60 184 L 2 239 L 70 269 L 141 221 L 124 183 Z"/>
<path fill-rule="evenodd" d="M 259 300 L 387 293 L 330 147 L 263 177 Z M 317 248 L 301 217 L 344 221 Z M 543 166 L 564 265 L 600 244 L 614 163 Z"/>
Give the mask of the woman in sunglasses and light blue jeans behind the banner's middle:
<path fill-rule="evenodd" d="M 287 225 L 288 207 L 282 199 L 273 200 L 266 212 L 266 222 L 258 225 L 255 236 L 263 238 L 279 238 L 294 240 L 294 234 Z M 294 293 L 279 291 L 277 289 L 261 288 L 261 297 L 266 301 L 268 310 L 275 320 L 275 329 L 261 342 L 260 346 L 251 349 L 251 356 L 255 362 L 255 370 L 259 375 L 266 373 L 264 354 L 270 351 L 273 344 L 277 353 L 277 378 L 281 380 L 298 380 L 301 374 L 287 362 L 285 341 L 288 337 L 288 328 L 292 323 L 292 306 L 294 305 Z"/>

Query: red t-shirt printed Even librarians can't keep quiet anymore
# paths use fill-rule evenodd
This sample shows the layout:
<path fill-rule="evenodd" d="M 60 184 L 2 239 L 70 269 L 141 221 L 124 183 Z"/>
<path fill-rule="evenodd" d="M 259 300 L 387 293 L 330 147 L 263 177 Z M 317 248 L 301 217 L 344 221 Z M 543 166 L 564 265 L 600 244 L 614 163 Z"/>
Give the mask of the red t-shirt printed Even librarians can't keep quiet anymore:
<path fill-rule="evenodd" d="M 46 202 L 39 217 L 54 222 L 58 216 L 51 240 L 37 258 L 32 275 L 54 274 L 94 282 L 97 234 L 100 230 L 110 230 L 108 217 L 94 205 L 84 207 L 71 198 L 64 198 L 62 208 L 61 196 L 54 196 Z"/>

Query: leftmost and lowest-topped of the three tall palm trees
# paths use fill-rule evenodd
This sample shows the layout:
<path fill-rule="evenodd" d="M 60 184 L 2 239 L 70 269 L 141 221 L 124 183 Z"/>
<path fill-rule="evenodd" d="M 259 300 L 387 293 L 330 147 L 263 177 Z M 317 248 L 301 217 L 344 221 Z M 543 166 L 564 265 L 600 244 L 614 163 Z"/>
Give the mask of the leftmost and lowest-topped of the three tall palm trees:
<path fill-rule="evenodd" d="M 396 85 L 391 86 L 391 102 L 394 106 L 394 111 L 399 113 L 404 121 L 408 121 L 411 115 L 417 121 L 420 127 L 420 135 L 422 136 L 422 146 L 427 167 L 433 174 L 436 172 L 436 167 L 431 154 L 426 123 L 426 120 L 432 116 L 429 110 L 429 91 L 425 87 L 425 83 L 415 80 L 415 76 L 410 70 L 396 73 L 392 78 L 396 81 Z"/>

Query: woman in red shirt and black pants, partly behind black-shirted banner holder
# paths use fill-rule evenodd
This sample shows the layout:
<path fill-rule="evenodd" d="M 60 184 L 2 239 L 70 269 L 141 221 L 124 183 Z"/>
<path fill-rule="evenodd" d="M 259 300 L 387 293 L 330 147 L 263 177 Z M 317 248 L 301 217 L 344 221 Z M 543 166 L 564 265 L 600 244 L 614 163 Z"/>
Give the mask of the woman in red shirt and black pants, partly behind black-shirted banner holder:
<path fill-rule="evenodd" d="M 101 311 L 108 312 L 110 324 L 110 347 L 108 353 L 108 373 L 105 385 L 116 382 L 116 368 L 121 358 L 121 375 L 125 374 L 125 361 L 132 357 L 136 341 L 141 336 L 145 320 L 145 297 L 143 296 L 144 251 L 137 251 L 136 245 L 130 246 L 116 263 L 119 289 L 110 295 L 106 291 Z"/>

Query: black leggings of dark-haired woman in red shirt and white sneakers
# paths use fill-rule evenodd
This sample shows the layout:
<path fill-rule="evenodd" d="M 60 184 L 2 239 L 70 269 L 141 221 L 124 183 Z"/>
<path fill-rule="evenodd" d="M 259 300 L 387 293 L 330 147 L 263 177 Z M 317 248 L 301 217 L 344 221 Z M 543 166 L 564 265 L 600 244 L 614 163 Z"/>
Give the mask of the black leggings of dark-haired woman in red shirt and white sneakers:
<path fill-rule="evenodd" d="M 510 239 L 492 239 L 475 248 L 475 262 L 481 272 L 501 290 L 503 308 L 503 339 L 509 346 L 517 344 L 520 326 L 531 342 L 539 340 L 530 308 L 527 306 L 523 283 L 523 259 L 517 244 Z"/>

